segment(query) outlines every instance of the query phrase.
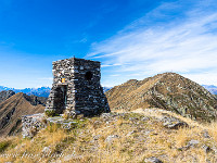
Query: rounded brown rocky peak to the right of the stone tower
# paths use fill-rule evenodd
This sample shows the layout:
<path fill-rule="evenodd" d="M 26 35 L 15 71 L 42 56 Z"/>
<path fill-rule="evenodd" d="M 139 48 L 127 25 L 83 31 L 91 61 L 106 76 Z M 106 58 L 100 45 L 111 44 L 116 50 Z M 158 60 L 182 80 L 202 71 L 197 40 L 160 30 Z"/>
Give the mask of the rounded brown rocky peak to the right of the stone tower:
<path fill-rule="evenodd" d="M 111 110 L 159 108 L 199 121 L 216 118 L 217 99 L 199 84 L 175 73 L 130 79 L 105 92 Z"/>

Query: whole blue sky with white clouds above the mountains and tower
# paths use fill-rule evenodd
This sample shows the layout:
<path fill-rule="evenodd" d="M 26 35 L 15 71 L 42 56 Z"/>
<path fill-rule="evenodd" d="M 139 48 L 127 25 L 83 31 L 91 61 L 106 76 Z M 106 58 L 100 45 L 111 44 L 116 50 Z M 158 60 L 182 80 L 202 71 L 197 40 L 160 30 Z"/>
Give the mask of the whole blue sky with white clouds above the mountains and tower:
<path fill-rule="evenodd" d="M 215 0 L 0 0 L 0 85 L 51 86 L 52 61 L 102 62 L 102 85 L 179 73 L 217 85 Z"/>

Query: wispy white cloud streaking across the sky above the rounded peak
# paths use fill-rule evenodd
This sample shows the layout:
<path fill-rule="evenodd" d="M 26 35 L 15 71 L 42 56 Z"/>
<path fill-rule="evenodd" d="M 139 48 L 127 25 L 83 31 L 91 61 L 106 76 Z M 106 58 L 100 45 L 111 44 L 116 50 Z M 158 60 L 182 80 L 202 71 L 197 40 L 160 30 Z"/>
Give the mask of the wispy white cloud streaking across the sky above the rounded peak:
<path fill-rule="evenodd" d="M 217 85 L 213 77 L 217 73 L 215 3 L 163 3 L 116 36 L 93 43 L 87 58 L 101 60 L 111 73 L 122 73 L 122 79 L 177 72 L 201 84 Z"/>

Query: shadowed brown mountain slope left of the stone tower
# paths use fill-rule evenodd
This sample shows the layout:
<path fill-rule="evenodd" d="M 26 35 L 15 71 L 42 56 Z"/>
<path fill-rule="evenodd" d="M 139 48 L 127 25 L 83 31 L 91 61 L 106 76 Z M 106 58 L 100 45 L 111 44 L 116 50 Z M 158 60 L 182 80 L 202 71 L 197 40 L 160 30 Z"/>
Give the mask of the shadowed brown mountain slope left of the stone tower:
<path fill-rule="evenodd" d="M 0 103 L 0 136 L 21 131 L 21 116 L 43 112 L 42 104 L 44 104 L 44 98 L 40 100 L 23 92 L 4 99 Z"/>

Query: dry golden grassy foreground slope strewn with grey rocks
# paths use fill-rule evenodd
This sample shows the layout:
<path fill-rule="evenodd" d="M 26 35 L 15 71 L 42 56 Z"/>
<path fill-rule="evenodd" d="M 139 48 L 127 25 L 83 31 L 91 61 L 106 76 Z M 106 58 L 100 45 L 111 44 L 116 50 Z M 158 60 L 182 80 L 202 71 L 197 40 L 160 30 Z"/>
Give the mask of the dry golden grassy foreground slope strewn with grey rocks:
<path fill-rule="evenodd" d="M 104 113 L 71 129 L 49 125 L 33 139 L 1 138 L 0 162 L 215 163 L 216 126 L 158 109 Z"/>

